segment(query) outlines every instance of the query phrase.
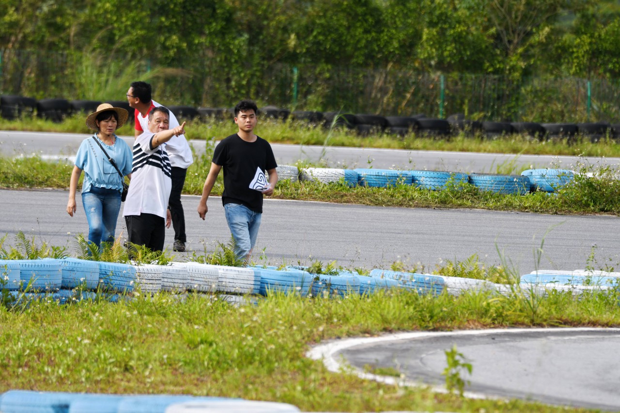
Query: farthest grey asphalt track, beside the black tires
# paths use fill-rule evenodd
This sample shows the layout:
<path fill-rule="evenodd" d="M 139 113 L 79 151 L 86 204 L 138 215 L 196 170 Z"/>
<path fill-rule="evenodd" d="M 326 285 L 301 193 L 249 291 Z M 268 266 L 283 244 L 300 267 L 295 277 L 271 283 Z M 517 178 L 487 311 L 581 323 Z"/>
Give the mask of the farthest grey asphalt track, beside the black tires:
<path fill-rule="evenodd" d="M 75 133 L 0 131 L 0 154 L 41 154 L 43 156 L 72 156 L 86 135 Z M 123 139 L 133 145 L 133 137 Z M 190 141 L 197 153 L 205 150 L 205 141 Z M 407 151 L 401 149 L 342 148 L 329 146 L 302 146 L 272 144 L 278 164 L 294 164 L 299 159 L 309 162 L 324 161 L 329 167 L 373 166 L 382 169 L 427 169 L 451 172 L 497 172 L 497 167 L 515 164 L 515 167 L 561 167 L 573 169 L 577 158 L 572 156 L 542 156 L 516 154 L 485 154 L 445 151 Z M 620 158 L 585 158 L 593 165 L 620 164 Z M 322 163 L 322 162 L 321 162 Z M 505 173 L 505 169 L 501 170 Z"/>

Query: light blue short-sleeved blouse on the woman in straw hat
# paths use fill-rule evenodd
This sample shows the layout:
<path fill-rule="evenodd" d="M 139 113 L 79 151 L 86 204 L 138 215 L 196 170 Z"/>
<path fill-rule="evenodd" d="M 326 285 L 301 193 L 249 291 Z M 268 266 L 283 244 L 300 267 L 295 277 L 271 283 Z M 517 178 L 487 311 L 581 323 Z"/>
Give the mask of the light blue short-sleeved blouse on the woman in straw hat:
<path fill-rule="evenodd" d="M 123 176 L 130 174 L 133 157 L 129 145 L 116 135 L 114 135 L 116 139 L 112 146 L 103 143 L 97 138 L 97 135 L 94 136 L 102 144 L 108 155 L 117 162 L 118 169 Z M 123 190 L 121 177 L 118 176 L 117 170 L 108 161 L 92 136 L 83 140 L 79 146 L 75 166 L 84 171 L 82 192 L 88 192 L 92 185 L 100 188 Z"/>

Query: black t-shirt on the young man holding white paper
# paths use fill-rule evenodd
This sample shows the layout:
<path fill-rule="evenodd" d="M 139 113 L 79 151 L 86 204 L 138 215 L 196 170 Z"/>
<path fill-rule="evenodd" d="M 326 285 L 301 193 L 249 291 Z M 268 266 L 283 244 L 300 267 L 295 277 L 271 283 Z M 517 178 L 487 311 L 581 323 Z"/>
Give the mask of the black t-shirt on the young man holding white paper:
<path fill-rule="evenodd" d="M 259 136 L 254 142 L 239 138 L 236 133 L 224 138 L 213 151 L 213 163 L 224 170 L 224 193 L 222 203 L 241 203 L 250 210 L 262 213 L 263 194 L 254 187 L 267 187 L 263 173 L 278 166 L 271 145 Z M 258 182 L 255 180 L 258 178 Z"/>

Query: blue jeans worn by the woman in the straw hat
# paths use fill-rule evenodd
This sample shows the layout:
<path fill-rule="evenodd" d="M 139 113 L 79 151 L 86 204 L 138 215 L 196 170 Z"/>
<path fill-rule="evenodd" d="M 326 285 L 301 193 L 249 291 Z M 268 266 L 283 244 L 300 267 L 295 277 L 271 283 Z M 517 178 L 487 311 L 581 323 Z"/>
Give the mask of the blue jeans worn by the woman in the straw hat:
<path fill-rule="evenodd" d="M 120 191 L 93 185 L 89 192 L 82 192 L 82 205 L 88 220 L 88 242 L 97 247 L 102 242 L 114 242 L 120 211 Z"/>

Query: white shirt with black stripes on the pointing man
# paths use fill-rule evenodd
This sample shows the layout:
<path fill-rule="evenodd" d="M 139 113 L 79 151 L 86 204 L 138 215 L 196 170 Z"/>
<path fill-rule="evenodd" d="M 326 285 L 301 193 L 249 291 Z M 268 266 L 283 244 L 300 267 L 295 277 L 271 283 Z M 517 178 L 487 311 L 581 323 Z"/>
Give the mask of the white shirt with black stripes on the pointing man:
<path fill-rule="evenodd" d="M 133 144 L 131 183 L 123 216 L 148 213 L 166 219 L 172 189 L 172 170 L 165 145 L 151 149 L 154 135 L 146 131 Z"/>

